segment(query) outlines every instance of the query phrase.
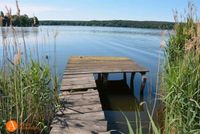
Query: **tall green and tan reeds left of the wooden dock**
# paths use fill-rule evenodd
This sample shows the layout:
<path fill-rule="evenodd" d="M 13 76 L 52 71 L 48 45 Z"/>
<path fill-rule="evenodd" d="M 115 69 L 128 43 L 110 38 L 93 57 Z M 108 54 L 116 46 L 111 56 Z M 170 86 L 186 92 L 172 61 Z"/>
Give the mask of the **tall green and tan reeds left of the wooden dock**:
<path fill-rule="evenodd" d="M 48 59 L 33 58 L 39 52 L 28 50 L 23 28 L 18 32 L 15 28 L 1 30 L 0 132 L 6 132 L 5 123 L 14 119 L 19 125 L 16 133 L 47 133 L 58 106 L 57 75 L 52 73 Z"/>

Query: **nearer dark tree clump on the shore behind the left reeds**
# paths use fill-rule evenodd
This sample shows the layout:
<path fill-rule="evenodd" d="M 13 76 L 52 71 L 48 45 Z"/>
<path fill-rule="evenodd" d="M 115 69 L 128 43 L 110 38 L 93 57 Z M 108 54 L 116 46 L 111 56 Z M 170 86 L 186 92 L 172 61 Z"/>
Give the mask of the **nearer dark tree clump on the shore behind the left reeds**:
<path fill-rule="evenodd" d="M 10 15 L 1 11 L 0 12 L 0 26 L 16 26 L 16 27 L 31 27 L 39 26 L 39 20 L 37 17 L 29 18 L 28 15 Z"/>

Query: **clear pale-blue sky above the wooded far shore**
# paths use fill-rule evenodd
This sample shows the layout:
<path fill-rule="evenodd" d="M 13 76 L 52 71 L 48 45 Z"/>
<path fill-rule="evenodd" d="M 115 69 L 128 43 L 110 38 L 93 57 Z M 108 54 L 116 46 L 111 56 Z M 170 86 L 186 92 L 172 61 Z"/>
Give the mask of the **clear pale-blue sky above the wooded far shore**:
<path fill-rule="evenodd" d="M 184 14 L 188 0 L 18 0 L 21 14 L 39 20 L 174 21 L 173 10 Z M 200 15 L 200 0 L 193 0 Z M 15 0 L 0 0 L 16 14 Z"/>

